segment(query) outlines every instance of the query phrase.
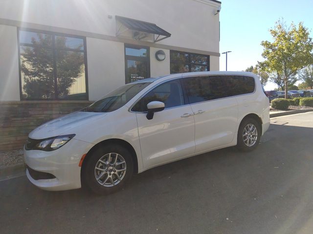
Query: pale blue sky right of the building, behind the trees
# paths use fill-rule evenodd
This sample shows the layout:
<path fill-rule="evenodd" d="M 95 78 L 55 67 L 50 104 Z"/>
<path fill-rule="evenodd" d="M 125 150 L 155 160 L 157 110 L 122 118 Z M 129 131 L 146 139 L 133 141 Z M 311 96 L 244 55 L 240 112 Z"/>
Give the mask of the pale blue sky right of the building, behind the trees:
<path fill-rule="evenodd" d="M 262 40 L 272 41 L 269 29 L 284 19 L 287 25 L 302 21 L 313 37 L 313 0 L 221 0 L 220 70 L 243 71 L 263 61 Z M 277 85 L 268 82 L 266 90 Z"/>

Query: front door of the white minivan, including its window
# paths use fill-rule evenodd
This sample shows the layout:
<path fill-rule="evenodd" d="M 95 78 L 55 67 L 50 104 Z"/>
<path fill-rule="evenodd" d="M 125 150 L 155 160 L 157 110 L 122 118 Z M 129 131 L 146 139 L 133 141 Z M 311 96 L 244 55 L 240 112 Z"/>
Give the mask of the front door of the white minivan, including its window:
<path fill-rule="evenodd" d="M 165 109 L 147 119 L 147 104 L 162 101 Z M 189 156 L 195 152 L 195 120 L 185 104 L 179 79 L 159 84 L 131 109 L 136 113 L 145 168 Z"/>

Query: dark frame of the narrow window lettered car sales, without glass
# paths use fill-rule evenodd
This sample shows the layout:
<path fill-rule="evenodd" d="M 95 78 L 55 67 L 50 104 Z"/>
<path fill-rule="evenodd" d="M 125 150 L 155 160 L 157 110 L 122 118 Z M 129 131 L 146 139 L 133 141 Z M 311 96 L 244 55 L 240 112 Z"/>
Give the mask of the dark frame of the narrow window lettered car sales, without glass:
<path fill-rule="evenodd" d="M 147 57 L 126 55 L 126 48 L 146 49 L 147 50 Z M 127 60 L 147 62 L 147 77 L 146 78 L 150 78 L 150 47 L 124 43 L 125 84 L 132 83 L 127 78 Z"/>

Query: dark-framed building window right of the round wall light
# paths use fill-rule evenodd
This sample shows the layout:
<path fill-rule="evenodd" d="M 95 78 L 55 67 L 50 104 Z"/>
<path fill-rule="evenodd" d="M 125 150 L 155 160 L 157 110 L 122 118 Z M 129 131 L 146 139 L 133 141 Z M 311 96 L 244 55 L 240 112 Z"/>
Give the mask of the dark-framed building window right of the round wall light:
<path fill-rule="evenodd" d="M 179 51 L 170 52 L 171 74 L 210 70 L 210 57 Z"/>

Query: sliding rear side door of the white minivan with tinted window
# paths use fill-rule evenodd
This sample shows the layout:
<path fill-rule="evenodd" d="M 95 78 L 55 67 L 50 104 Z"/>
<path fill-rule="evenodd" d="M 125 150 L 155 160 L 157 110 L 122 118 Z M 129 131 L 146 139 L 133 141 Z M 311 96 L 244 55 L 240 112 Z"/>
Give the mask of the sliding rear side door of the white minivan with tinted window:
<path fill-rule="evenodd" d="M 228 97 L 224 76 L 183 77 L 182 84 L 195 118 L 196 153 L 229 144 L 235 135 L 238 107 Z"/>

